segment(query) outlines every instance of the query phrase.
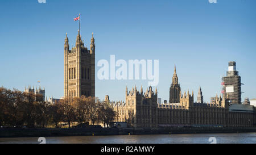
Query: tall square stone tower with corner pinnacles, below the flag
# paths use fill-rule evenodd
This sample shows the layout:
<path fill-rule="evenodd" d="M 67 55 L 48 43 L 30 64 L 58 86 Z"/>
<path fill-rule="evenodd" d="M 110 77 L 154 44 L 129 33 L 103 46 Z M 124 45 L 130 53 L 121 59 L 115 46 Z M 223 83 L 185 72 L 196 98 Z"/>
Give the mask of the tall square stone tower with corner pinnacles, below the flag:
<path fill-rule="evenodd" d="M 95 44 L 92 34 L 90 49 L 84 47 L 80 32 L 76 46 L 69 50 L 66 33 L 64 44 L 64 97 L 95 96 Z"/>

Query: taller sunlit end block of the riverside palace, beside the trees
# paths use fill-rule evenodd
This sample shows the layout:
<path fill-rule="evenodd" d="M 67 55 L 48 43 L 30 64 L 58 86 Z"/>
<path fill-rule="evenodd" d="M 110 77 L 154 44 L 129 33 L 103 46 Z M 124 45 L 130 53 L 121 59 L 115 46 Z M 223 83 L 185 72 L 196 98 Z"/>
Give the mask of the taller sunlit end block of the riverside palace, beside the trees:
<path fill-rule="evenodd" d="M 105 100 L 109 102 L 109 100 Z M 117 112 L 115 122 L 129 122 L 133 127 L 156 127 L 158 124 L 157 119 L 157 89 L 152 91 L 152 87 L 143 94 L 137 90 L 135 86 L 128 92 L 126 87 L 126 103 L 114 102 L 111 103 L 114 111 Z"/>

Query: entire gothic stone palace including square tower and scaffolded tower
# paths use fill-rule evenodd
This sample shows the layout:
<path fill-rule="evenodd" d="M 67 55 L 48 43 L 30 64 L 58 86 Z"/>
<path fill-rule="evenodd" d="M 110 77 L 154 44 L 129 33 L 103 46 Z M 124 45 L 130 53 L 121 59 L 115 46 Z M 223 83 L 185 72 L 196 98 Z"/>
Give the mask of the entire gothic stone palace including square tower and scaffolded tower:
<path fill-rule="evenodd" d="M 153 91 L 148 87 L 146 91 L 133 87 L 125 90 L 125 102 L 110 102 L 106 95 L 105 101 L 113 107 L 117 116 L 114 122 L 127 122 L 135 128 L 157 127 L 253 127 L 256 124 L 255 107 L 241 103 L 231 103 L 230 100 L 239 102 L 241 93 L 236 91 L 234 85 L 238 76 L 236 62 L 229 63 L 229 72 L 222 97 L 215 97 L 213 102 L 204 103 L 201 87 L 194 101 L 193 91 L 181 93 L 181 87 L 174 68 L 174 76 L 170 86 L 170 98 L 167 103 L 157 103 L 158 90 Z M 234 74 L 236 73 L 236 74 Z M 239 81 L 237 82 L 239 84 Z M 234 85 L 234 86 L 232 86 Z M 103 86 L 104 88 L 104 86 Z M 104 88 L 107 89 L 107 88 Z M 241 91 L 241 89 L 237 89 Z M 95 97 L 95 43 L 92 34 L 90 49 L 84 46 L 80 32 L 76 37 L 76 45 L 69 50 L 68 35 L 64 42 L 64 97 Z M 230 97 L 229 97 L 230 95 Z M 240 95 L 240 96 L 239 96 Z M 237 99 L 238 98 L 238 99 Z"/>

